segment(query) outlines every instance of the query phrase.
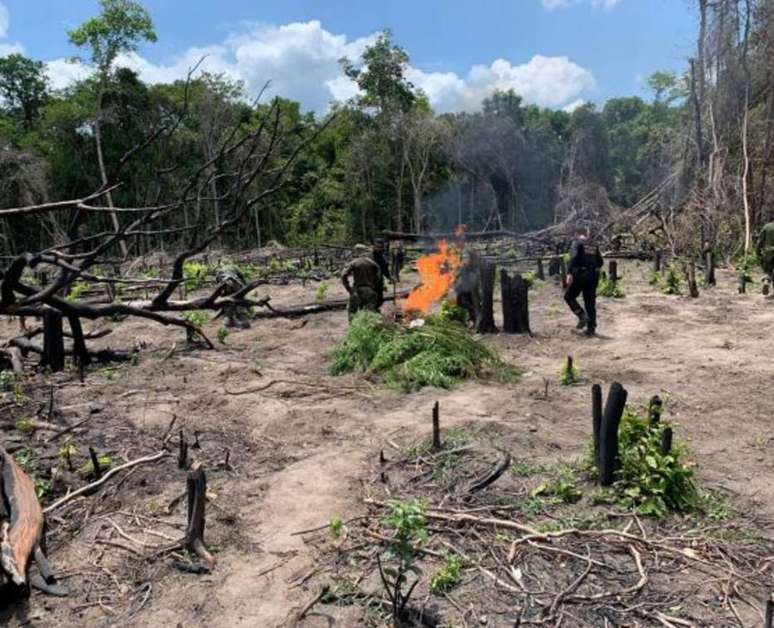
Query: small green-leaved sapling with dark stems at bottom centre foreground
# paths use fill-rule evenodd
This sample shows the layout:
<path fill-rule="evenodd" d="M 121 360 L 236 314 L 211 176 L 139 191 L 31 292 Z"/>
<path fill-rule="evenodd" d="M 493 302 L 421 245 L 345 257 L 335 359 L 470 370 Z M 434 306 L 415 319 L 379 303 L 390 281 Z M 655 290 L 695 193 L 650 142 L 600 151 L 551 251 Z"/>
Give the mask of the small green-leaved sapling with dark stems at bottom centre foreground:
<path fill-rule="evenodd" d="M 422 574 L 416 565 L 419 557 L 416 546 L 427 541 L 429 536 L 425 507 L 418 501 L 392 502 L 390 514 L 384 519 L 384 523 L 392 529 L 393 534 L 387 543 L 387 550 L 383 557 L 377 557 L 377 560 L 379 575 L 392 605 L 393 624 L 397 627 L 402 625 L 406 605 Z M 385 566 L 382 558 L 394 566 Z M 417 579 L 404 593 L 403 589 L 408 584 L 409 573 L 415 574 Z"/>

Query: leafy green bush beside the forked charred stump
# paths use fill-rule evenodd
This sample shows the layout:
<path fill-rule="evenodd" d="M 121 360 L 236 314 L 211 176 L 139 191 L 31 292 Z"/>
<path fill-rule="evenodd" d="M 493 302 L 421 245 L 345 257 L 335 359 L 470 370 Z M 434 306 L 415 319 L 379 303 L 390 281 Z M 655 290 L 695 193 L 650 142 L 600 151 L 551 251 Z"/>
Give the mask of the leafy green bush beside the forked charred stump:
<path fill-rule="evenodd" d="M 669 512 L 691 512 L 701 506 L 693 469 L 684 463 L 685 447 L 675 440 L 661 452 L 668 421 L 652 425 L 627 406 L 618 430 L 621 468 L 615 490 L 621 505 L 643 515 L 664 517 Z"/>

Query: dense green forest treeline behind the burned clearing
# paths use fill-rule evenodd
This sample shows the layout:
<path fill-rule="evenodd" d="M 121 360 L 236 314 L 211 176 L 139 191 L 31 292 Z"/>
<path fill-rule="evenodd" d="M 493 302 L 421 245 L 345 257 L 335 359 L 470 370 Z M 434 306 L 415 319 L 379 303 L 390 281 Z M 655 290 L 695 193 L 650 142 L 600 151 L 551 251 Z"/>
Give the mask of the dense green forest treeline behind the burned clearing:
<path fill-rule="evenodd" d="M 123 8 L 111 13 L 111 4 Z M 135 254 L 177 249 L 190 232 L 232 219 L 219 243 L 250 248 L 462 223 L 534 231 L 600 205 L 646 207 L 654 237 L 673 248 L 711 242 L 738 252 L 772 217 L 770 0 L 699 0 L 695 55 L 681 75 L 649 77 L 649 100 L 567 112 L 497 92 L 481 111 L 444 115 L 407 80 L 409 53 L 389 31 L 361 59 L 341 60 L 357 97 L 303 112 L 279 97 L 251 99 L 240 83 L 196 68 L 187 80 L 144 83 L 116 58 L 155 41 L 151 16 L 135 3 L 103 9 L 68 33 L 94 67 L 86 80 L 52 90 L 43 62 L 0 59 L 0 207 L 79 199 L 118 183 L 111 207 L 178 203 L 163 218 L 164 236 L 136 238 Z M 261 140 L 270 142 L 266 167 L 245 182 L 237 173 L 256 148 L 239 139 L 267 124 L 276 132 Z M 277 189 L 262 195 L 280 170 Z M 253 193 L 235 195 L 235 185 Z M 38 250 L 123 218 L 78 209 L 8 216 L 0 248 Z"/>

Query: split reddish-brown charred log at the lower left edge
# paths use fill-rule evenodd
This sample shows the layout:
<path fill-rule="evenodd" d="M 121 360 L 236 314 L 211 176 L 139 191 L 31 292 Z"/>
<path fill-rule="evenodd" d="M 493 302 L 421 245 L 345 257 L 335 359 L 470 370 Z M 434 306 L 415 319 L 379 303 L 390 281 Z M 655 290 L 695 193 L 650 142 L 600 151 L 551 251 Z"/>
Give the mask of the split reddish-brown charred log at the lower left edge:
<path fill-rule="evenodd" d="M 29 594 L 28 571 L 43 538 L 43 511 L 35 485 L 0 448 L 0 585 Z"/>

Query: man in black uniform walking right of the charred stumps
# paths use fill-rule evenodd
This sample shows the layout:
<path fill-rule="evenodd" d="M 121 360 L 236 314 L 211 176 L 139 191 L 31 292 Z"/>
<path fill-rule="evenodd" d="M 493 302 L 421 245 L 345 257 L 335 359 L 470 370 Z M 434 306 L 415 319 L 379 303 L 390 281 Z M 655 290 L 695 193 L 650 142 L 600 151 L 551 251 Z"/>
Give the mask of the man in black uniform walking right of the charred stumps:
<path fill-rule="evenodd" d="M 564 300 L 578 317 L 578 329 L 585 327 L 587 336 L 593 336 L 597 329 L 597 284 L 602 265 L 599 248 L 589 244 L 585 235 L 579 234 L 570 249 Z M 578 303 L 580 294 L 583 294 L 585 311 Z"/>

